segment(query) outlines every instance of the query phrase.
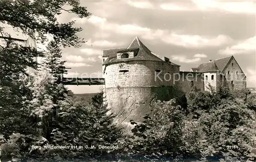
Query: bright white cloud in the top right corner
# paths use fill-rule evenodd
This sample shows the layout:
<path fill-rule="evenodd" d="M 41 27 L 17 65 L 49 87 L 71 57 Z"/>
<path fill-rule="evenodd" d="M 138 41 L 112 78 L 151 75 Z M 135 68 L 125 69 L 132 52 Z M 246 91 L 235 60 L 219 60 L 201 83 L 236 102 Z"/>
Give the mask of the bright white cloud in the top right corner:
<path fill-rule="evenodd" d="M 226 11 L 231 13 L 256 13 L 255 1 L 192 0 L 199 10 Z"/>

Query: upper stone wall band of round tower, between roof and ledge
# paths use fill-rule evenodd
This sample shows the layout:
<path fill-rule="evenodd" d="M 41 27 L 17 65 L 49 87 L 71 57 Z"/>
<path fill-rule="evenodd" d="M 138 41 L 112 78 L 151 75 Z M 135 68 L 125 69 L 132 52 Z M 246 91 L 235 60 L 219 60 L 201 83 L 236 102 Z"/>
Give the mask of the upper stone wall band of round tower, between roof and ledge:
<path fill-rule="evenodd" d="M 173 85 L 174 68 L 165 62 L 129 61 L 105 66 L 106 88 Z"/>

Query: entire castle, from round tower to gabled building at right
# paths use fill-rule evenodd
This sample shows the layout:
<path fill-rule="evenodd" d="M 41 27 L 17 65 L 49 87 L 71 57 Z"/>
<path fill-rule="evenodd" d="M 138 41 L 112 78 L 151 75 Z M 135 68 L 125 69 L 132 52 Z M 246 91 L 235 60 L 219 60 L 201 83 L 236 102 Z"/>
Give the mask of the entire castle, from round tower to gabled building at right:
<path fill-rule="evenodd" d="M 175 89 L 246 88 L 246 76 L 233 56 L 180 71 L 180 65 L 153 53 L 136 37 L 127 48 L 104 49 L 102 59 L 105 102 L 120 123 L 143 117 L 153 101 L 171 99 Z"/>

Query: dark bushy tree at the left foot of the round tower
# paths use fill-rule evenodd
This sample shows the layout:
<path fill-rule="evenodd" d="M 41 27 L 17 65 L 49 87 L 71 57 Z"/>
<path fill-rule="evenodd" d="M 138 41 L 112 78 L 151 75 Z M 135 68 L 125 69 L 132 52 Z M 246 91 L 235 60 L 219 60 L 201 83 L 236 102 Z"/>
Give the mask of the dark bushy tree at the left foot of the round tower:
<path fill-rule="evenodd" d="M 98 148 L 111 146 L 121 138 L 121 129 L 114 124 L 115 116 L 103 105 L 103 92 L 92 98 L 90 105 L 84 102 L 71 103 L 60 113 L 63 132 L 68 143 L 76 146 Z M 103 156 L 107 150 L 80 150 L 91 157 Z"/>

